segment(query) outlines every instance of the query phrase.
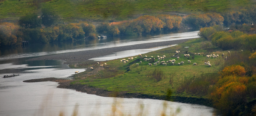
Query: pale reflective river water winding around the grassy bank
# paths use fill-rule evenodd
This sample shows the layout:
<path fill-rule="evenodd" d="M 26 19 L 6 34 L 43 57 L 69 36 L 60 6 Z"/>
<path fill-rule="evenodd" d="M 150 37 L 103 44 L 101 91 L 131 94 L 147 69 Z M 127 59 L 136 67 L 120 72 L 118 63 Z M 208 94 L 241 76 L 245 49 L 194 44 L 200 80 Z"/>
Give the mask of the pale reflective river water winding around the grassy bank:
<path fill-rule="evenodd" d="M 214 108 L 203 105 L 152 99 L 100 97 L 71 89 L 57 88 L 58 84 L 55 82 L 23 82 L 28 79 L 46 77 L 70 78 L 75 71 L 83 72 L 86 70 L 69 68 L 62 61 L 57 60 L 26 61 L 32 57 L 197 38 L 197 33 L 198 31 L 178 32 L 137 38 L 107 38 L 1 49 L 0 75 L 12 75 L 14 73 L 15 75 L 19 74 L 19 76 L 0 78 L 0 116 L 57 116 L 61 113 L 65 116 L 71 116 L 74 113 L 79 116 L 109 116 L 114 114 L 113 109 L 115 109 L 115 115 L 124 116 L 160 116 L 162 112 L 167 115 L 175 114 L 180 116 L 216 115 Z M 164 47 L 168 46 L 139 51 L 150 52 Z M 138 50 L 135 50 L 135 53 L 137 54 Z M 117 54 L 115 53 L 114 55 L 116 56 Z M 132 56 L 132 54 L 134 52 L 126 52 L 126 55 Z M 122 54 L 117 56 L 124 57 Z M 106 60 L 111 59 L 111 56 L 104 57 L 106 57 Z"/>

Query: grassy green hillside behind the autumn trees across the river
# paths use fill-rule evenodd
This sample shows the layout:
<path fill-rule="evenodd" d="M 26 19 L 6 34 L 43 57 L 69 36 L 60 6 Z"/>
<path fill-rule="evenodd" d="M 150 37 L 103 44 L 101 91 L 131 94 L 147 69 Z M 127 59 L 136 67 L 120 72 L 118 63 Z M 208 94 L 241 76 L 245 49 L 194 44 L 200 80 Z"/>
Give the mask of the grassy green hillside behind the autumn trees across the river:
<path fill-rule="evenodd" d="M 18 20 L 49 9 L 65 21 L 126 20 L 143 14 L 226 12 L 250 8 L 254 0 L 0 0 L 0 20 Z"/>

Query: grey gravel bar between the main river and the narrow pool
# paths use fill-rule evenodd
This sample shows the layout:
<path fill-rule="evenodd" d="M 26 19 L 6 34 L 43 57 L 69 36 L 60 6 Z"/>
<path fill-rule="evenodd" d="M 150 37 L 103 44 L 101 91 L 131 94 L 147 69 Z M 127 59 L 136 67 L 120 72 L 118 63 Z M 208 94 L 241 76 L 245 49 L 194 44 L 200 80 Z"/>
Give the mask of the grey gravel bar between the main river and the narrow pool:
<path fill-rule="evenodd" d="M 63 61 L 66 61 L 65 64 L 76 64 L 76 63 L 79 63 L 79 62 L 86 62 L 86 60 L 88 60 L 90 58 L 110 55 L 112 53 L 120 52 L 120 51 L 124 51 L 124 50 L 145 49 L 145 48 L 180 44 L 180 43 L 186 42 L 187 40 L 190 40 L 190 39 L 172 40 L 172 41 L 163 41 L 163 42 L 154 42 L 154 43 L 127 45 L 127 46 L 111 47 L 111 48 L 103 48 L 103 49 L 92 49 L 92 50 L 71 52 L 71 53 L 46 55 L 46 56 L 31 58 L 31 59 L 28 59 L 28 61 L 33 61 L 33 60 L 63 60 Z"/>

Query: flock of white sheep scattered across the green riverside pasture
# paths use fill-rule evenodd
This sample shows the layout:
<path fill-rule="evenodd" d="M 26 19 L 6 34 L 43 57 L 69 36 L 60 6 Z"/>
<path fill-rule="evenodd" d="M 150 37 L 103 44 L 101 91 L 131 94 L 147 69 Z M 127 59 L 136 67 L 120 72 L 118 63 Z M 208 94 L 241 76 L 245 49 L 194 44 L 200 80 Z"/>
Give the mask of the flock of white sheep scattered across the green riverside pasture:
<path fill-rule="evenodd" d="M 241 50 L 241 51 L 243 51 L 243 50 Z M 178 55 L 178 54 L 180 54 L 180 51 L 175 51 L 175 55 Z M 196 54 L 196 53 L 195 53 Z M 175 56 L 175 55 L 173 55 L 173 56 Z M 201 55 L 200 53 L 198 53 L 198 55 Z M 228 55 L 230 55 L 230 52 L 228 51 Z M 141 54 L 139 54 L 139 57 L 142 57 L 142 55 Z M 161 61 L 161 60 L 164 60 L 165 58 L 166 58 L 166 56 L 165 55 L 163 55 L 162 57 L 160 57 L 160 56 L 157 56 L 157 61 L 155 62 L 155 58 L 153 58 L 153 56 L 151 56 L 151 58 L 147 58 L 147 56 L 145 56 L 146 58 L 144 58 L 143 60 L 144 61 L 154 61 L 154 63 L 153 63 L 153 65 L 154 66 L 157 66 L 157 64 L 163 64 L 163 66 L 167 66 L 167 64 L 169 64 L 169 63 L 171 63 L 171 65 L 174 65 L 174 63 L 175 63 L 175 59 L 172 59 L 172 60 L 167 60 L 167 61 Z M 190 55 L 189 54 L 184 54 L 184 57 L 187 57 L 187 58 L 189 58 L 190 57 Z M 219 55 L 215 55 L 215 54 L 211 54 L 211 55 L 206 55 L 206 57 L 207 58 L 217 58 L 217 57 L 219 57 Z M 222 57 L 224 57 L 224 54 L 222 54 Z M 137 57 L 135 57 L 135 58 L 137 58 Z M 130 60 L 132 60 L 133 59 L 133 57 L 130 57 L 130 58 L 128 58 L 128 60 L 126 60 L 126 59 L 122 59 L 122 60 L 120 60 L 120 63 L 127 63 L 127 62 L 129 62 Z M 177 60 L 179 60 L 180 59 L 180 57 L 177 57 Z M 225 57 L 225 60 L 227 60 L 227 56 Z M 140 61 L 140 64 L 142 63 L 142 61 Z M 188 63 L 191 63 L 191 61 L 190 60 L 188 60 Z M 100 63 L 99 62 L 97 62 L 97 64 L 98 65 L 100 65 Z M 181 64 L 183 65 L 184 64 L 184 61 L 181 61 L 181 62 L 179 62 L 179 63 L 177 63 L 178 64 L 178 66 L 180 66 Z M 211 67 L 212 65 L 210 64 L 210 61 L 208 61 L 208 62 L 204 62 L 204 64 L 205 65 L 208 65 L 209 67 Z M 104 63 L 104 65 L 106 65 L 106 63 Z M 139 66 L 139 63 L 136 63 L 136 65 L 137 66 Z M 148 65 L 149 66 L 152 66 L 152 63 L 148 63 Z M 193 66 L 194 65 L 197 65 L 197 63 L 193 63 Z M 103 64 L 101 64 L 100 65 L 100 67 L 103 67 Z M 93 71 L 93 67 L 90 67 L 90 71 Z M 76 71 L 75 72 L 75 74 L 76 73 L 78 73 L 79 71 Z"/>

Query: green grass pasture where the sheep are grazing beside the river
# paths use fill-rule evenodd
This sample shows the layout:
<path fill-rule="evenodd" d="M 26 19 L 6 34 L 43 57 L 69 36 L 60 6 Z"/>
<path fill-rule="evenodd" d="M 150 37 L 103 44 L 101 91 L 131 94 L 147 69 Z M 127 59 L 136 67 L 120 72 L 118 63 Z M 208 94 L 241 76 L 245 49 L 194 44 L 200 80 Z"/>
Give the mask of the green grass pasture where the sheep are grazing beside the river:
<path fill-rule="evenodd" d="M 218 70 L 222 67 L 222 64 L 225 60 L 221 57 L 221 54 L 227 53 L 227 51 L 223 51 L 212 46 L 210 48 L 210 51 L 212 52 L 207 52 L 209 50 L 203 50 L 207 44 L 209 44 L 208 41 L 203 39 L 193 39 L 177 46 L 142 54 L 142 58 L 139 56 L 131 56 L 134 59 L 127 62 L 126 64 L 120 63 L 120 60 L 123 58 L 102 61 L 100 64 L 107 64 L 106 66 L 103 66 L 103 68 L 97 65 L 96 62 L 92 64 L 80 63 L 77 64 L 76 68 L 89 69 L 89 67 L 94 67 L 95 70 L 87 70 L 75 75 L 76 81 L 74 81 L 72 84 L 85 84 L 108 91 L 141 93 L 155 96 L 164 96 L 166 95 L 167 90 L 171 89 L 174 92 L 172 96 L 192 96 L 205 98 L 205 96 L 190 94 L 186 92 L 177 93 L 176 90 L 184 81 L 184 79 L 197 78 L 202 73 L 218 72 Z M 180 50 L 181 53 L 179 55 L 173 56 L 176 50 Z M 187 54 L 190 54 L 190 58 L 183 56 L 186 54 L 186 52 Z M 198 55 L 197 53 L 201 53 L 201 55 Z M 203 56 L 204 54 L 218 54 L 219 57 L 206 58 Z M 147 55 L 147 58 L 153 56 L 156 58 L 156 61 L 157 56 L 166 55 L 164 61 L 175 59 L 176 62 L 174 63 L 174 66 L 172 66 L 171 63 L 167 64 L 167 66 L 163 66 L 162 64 L 157 64 L 157 66 L 154 66 L 152 63 L 153 66 L 149 66 L 149 62 L 143 60 L 145 55 Z M 179 60 L 177 60 L 178 56 L 180 57 Z M 187 60 L 190 60 L 191 63 L 188 63 Z M 139 61 L 142 61 L 142 64 L 137 66 L 136 63 L 139 63 Z M 185 62 L 184 65 L 178 66 L 177 63 L 181 61 Z M 204 64 L 204 62 L 207 61 L 210 61 L 212 67 Z M 193 66 L 193 63 L 197 63 L 197 66 Z M 163 78 L 158 82 L 156 79 L 148 77 L 148 73 L 154 69 L 163 71 Z M 170 80 L 172 80 L 172 83 L 170 83 Z"/>

